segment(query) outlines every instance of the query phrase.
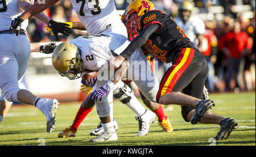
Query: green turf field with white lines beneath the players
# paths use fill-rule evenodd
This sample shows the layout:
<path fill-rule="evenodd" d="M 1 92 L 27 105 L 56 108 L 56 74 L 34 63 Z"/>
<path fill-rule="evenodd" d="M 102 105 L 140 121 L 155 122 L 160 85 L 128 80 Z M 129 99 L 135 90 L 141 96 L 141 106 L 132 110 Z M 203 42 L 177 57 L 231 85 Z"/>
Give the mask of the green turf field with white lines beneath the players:
<path fill-rule="evenodd" d="M 216 106 L 214 113 L 236 118 L 237 128 L 229 139 L 211 141 L 220 129 L 219 125 L 196 124 L 185 122 L 180 114 L 180 107 L 172 105 L 172 111 L 166 111 L 174 126 L 174 131 L 164 133 L 156 121 L 150 132 L 144 137 L 135 137 L 138 123 L 135 114 L 125 105 L 114 101 L 114 117 L 119 126 L 118 141 L 89 143 L 89 133 L 96 128 L 99 118 L 94 108 L 80 125 L 77 137 L 58 138 L 57 134 L 70 126 L 78 111 L 79 103 L 60 104 L 57 112 L 57 125 L 52 133 L 46 132 L 46 118 L 35 107 L 28 105 L 12 107 L 0 125 L 0 145 L 108 145 L 108 146 L 255 146 L 255 92 L 240 94 L 210 94 Z"/>

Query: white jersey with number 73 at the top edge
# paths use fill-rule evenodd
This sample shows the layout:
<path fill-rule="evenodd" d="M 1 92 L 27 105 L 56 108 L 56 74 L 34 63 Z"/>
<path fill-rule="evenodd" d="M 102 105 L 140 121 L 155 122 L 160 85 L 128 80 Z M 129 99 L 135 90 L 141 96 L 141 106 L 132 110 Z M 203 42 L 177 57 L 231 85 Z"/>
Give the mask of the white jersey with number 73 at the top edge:
<path fill-rule="evenodd" d="M 113 32 L 127 36 L 114 0 L 70 0 L 88 34 Z"/>

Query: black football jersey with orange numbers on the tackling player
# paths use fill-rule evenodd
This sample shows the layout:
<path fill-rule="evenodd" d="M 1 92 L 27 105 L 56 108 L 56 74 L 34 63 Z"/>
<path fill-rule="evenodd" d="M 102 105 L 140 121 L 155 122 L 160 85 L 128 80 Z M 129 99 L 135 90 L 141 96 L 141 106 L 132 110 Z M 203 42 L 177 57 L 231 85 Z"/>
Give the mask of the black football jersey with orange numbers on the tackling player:
<path fill-rule="evenodd" d="M 139 32 L 155 23 L 160 25 L 159 29 L 152 33 L 144 43 L 144 46 L 155 58 L 170 63 L 181 48 L 186 46 L 194 48 L 194 44 L 185 35 L 183 29 L 177 26 L 171 16 L 160 10 L 148 11 L 141 17 Z"/>

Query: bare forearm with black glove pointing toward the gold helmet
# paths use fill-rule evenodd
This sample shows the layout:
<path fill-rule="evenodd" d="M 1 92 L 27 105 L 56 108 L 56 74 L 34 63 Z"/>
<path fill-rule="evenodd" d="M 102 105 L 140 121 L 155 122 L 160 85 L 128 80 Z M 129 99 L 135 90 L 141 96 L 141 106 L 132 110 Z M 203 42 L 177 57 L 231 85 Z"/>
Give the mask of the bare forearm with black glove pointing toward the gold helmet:
<path fill-rule="evenodd" d="M 30 43 L 30 48 L 31 48 L 31 52 L 40 52 L 40 53 L 50 54 L 56 48 L 56 44 L 49 43 L 47 45 L 39 45 L 39 44 Z"/>

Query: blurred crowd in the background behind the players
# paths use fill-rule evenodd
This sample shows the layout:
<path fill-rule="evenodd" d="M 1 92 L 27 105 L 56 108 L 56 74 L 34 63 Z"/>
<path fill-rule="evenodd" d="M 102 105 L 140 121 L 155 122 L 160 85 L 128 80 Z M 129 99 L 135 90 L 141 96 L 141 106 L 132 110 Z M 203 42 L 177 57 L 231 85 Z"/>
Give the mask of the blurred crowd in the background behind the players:
<path fill-rule="evenodd" d="M 132 0 L 115 0 L 117 10 L 125 10 Z M 182 16 L 179 5 L 183 0 L 151 0 L 155 8 L 173 18 Z M 200 51 L 209 63 L 207 83 L 209 92 L 240 92 L 255 90 L 255 0 L 192 1 L 192 16 L 204 21 L 205 33 Z M 61 0 L 44 13 L 57 22 L 77 22 L 79 18 L 69 0 Z M 56 41 L 45 24 L 30 19 L 27 27 L 31 43 Z M 186 32 L 185 32 L 186 33 Z M 59 36 L 69 41 L 87 35 L 73 30 Z"/>

